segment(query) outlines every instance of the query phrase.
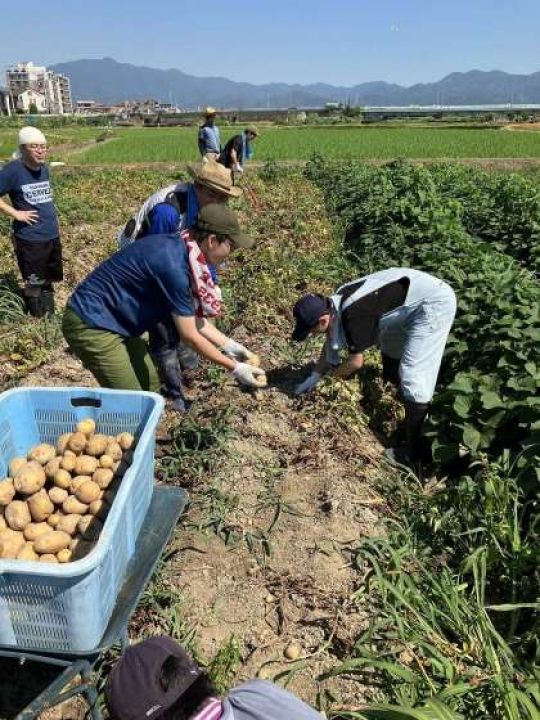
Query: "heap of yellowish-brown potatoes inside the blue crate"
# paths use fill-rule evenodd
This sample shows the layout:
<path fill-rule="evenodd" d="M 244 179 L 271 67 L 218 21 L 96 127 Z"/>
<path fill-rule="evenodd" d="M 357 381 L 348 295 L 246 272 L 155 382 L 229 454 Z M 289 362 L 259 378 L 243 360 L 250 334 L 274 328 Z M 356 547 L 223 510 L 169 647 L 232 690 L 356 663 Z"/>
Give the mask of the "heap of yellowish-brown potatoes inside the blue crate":
<path fill-rule="evenodd" d="M 86 418 L 56 447 L 36 445 L 9 463 L 0 480 L 0 558 L 66 563 L 96 543 L 134 438 L 95 432 Z"/>

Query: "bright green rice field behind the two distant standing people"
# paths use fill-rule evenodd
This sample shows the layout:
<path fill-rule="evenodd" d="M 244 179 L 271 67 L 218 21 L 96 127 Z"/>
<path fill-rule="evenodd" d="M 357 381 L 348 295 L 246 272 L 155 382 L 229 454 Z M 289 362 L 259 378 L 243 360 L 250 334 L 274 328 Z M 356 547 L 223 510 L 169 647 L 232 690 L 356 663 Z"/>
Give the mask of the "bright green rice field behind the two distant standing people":
<path fill-rule="evenodd" d="M 222 140 L 239 131 L 223 128 Z M 89 147 L 77 162 L 89 164 L 183 162 L 198 156 L 196 128 L 114 131 L 114 139 Z M 261 128 L 254 160 L 329 158 L 528 158 L 540 157 L 540 133 L 454 128 Z"/>

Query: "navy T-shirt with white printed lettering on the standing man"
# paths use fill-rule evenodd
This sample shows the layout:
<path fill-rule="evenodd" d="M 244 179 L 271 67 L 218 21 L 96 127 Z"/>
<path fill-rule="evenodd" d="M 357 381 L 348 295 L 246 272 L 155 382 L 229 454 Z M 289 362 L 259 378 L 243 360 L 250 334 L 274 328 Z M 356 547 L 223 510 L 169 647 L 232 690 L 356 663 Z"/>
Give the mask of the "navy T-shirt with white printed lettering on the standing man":
<path fill-rule="evenodd" d="M 58 237 L 58 218 L 49 169 L 45 165 L 37 170 L 26 167 L 22 160 L 13 160 L 4 165 L 0 170 L 0 197 L 6 194 L 15 210 L 38 212 L 37 222 L 32 225 L 13 220 L 15 237 L 30 242 L 45 242 Z"/>

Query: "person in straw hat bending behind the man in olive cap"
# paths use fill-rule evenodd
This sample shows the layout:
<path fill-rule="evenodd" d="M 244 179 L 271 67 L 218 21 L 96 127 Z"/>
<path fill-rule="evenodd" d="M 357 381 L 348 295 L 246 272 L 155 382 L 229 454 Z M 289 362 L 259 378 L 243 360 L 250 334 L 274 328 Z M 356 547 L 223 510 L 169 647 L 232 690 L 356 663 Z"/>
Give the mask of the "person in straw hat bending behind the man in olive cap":
<path fill-rule="evenodd" d="M 193 182 L 181 182 L 161 188 L 151 195 L 128 221 L 118 238 L 120 248 L 148 235 L 169 235 L 192 230 L 199 210 L 212 203 L 226 203 L 240 197 L 242 190 L 234 187 L 231 176 L 215 162 L 188 163 Z M 217 284 L 217 272 L 209 264 L 212 280 Z M 186 409 L 182 388 L 192 381 L 199 365 L 197 353 L 178 337 L 171 317 L 158 322 L 148 332 L 148 347 L 165 391 L 175 410 Z M 247 358 L 247 356 L 246 356 Z"/>

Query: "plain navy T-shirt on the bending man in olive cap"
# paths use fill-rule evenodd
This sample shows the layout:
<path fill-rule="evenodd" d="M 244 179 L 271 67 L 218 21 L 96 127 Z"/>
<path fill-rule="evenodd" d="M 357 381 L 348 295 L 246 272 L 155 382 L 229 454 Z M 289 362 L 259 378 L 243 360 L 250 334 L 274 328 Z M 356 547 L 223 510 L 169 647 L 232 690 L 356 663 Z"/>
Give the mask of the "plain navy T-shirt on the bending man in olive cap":
<path fill-rule="evenodd" d="M 176 235 L 147 235 L 75 288 L 70 306 L 89 327 L 138 337 L 171 314 L 195 314 L 188 254 Z"/>

